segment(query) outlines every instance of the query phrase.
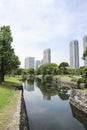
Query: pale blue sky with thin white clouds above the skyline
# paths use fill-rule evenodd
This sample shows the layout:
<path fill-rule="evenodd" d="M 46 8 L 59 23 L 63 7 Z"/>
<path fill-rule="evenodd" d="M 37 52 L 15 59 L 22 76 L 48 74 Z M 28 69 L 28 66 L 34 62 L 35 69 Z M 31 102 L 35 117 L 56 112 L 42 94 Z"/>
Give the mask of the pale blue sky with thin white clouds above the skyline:
<path fill-rule="evenodd" d="M 87 0 L 0 0 L 0 26 L 10 25 L 16 55 L 43 58 L 51 49 L 54 63 L 70 62 L 69 44 L 79 41 L 83 65 L 83 37 L 87 35 Z"/>

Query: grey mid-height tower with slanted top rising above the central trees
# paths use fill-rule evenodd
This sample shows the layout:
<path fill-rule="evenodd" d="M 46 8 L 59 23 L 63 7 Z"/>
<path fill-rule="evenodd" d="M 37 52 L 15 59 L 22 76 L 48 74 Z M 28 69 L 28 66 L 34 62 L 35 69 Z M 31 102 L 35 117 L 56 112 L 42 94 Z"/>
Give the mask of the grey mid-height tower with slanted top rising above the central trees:
<path fill-rule="evenodd" d="M 51 50 L 48 48 L 43 52 L 43 63 L 51 62 Z"/>

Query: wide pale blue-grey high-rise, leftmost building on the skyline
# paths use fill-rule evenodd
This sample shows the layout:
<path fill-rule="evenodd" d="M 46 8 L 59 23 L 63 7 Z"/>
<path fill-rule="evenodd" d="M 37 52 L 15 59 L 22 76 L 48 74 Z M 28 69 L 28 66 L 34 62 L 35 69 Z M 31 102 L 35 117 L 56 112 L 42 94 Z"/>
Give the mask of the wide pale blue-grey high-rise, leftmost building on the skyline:
<path fill-rule="evenodd" d="M 34 68 L 35 66 L 35 58 L 27 57 L 25 58 L 25 69 Z"/>

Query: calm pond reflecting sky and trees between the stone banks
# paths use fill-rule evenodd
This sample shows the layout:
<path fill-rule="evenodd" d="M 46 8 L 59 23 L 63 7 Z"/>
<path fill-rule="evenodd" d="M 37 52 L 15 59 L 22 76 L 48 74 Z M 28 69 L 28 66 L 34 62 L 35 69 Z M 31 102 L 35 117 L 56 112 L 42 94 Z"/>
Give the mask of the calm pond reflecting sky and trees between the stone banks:
<path fill-rule="evenodd" d="M 69 87 L 44 81 L 23 86 L 30 130 L 87 130 L 87 116 L 69 102 Z"/>

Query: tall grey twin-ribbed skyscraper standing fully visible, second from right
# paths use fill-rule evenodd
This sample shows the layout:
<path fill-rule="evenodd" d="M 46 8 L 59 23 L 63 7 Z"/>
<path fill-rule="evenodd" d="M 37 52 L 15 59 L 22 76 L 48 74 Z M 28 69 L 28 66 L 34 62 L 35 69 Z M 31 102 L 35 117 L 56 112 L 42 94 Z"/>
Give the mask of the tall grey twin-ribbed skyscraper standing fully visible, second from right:
<path fill-rule="evenodd" d="M 77 40 L 70 42 L 70 67 L 79 68 L 79 43 Z"/>

